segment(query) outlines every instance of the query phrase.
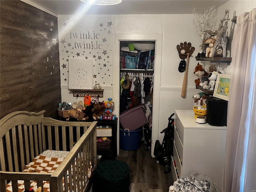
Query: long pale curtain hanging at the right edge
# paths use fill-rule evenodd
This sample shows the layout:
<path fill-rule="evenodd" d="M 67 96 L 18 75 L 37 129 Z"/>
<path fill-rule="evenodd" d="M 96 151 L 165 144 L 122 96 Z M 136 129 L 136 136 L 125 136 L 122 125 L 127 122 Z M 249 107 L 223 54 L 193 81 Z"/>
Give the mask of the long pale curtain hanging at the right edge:
<path fill-rule="evenodd" d="M 234 44 L 233 44 L 234 42 Z M 222 190 L 256 191 L 256 8 L 237 17 L 232 41 Z"/>

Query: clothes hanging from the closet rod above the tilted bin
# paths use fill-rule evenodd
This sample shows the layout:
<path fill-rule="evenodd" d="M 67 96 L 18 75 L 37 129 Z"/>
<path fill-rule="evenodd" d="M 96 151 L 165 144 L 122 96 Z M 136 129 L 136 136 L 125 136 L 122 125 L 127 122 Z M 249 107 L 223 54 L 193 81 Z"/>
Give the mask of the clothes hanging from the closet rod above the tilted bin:
<path fill-rule="evenodd" d="M 120 112 L 144 104 L 146 95 L 152 94 L 153 75 L 145 73 L 120 73 Z M 152 100 L 152 96 L 151 96 Z M 152 103 L 151 107 L 152 107 Z"/>

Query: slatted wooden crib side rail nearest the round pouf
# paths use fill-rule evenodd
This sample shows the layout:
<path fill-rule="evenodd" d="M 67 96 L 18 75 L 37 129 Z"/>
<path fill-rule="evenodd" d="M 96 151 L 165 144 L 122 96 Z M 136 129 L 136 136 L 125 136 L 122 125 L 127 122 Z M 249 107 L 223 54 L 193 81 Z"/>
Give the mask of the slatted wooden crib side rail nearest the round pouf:
<path fill-rule="evenodd" d="M 52 174 L 52 183 L 50 191 L 62 189 L 62 180 L 64 179 L 65 192 L 84 191 L 88 188 L 90 174 L 88 170 L 96 168 L 96 124 L 92 122 L 88 130 L 82 135 L 80 140 L 74 145 L 63 162 Z M 76 161 L 74 161 L 76 160 Z M 75 170 L 75 171 L 74 171 Z M 72 172 L 72 178 L 69 173 Z M 68 177 L 69 175 L 69 177 Z M 69 180 L 69 186 L 68 186 Z M 72 181 L 72 182 L 71 182 Z M 82 181 L 82 182 L 81 182 Z M 71 185 L 71 183 L 73 185 Z"/>

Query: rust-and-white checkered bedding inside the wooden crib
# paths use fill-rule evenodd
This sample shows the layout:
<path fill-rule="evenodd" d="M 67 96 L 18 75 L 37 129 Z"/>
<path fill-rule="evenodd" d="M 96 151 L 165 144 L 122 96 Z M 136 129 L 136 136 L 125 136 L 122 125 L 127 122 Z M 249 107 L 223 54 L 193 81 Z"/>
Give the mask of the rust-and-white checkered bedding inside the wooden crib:
<path fill-rule="evenodd" d="M 56 170 L 56 168 L 60 165 L 60 163 L 64 160 L 67 154 L 68 152 L 66 151 L 46 150 L 42 154 L 36 156 L 28 165 L 26 165 L 22 172 L 53 173 Z M 30 186 L 31 188 L 36 190 L 36 181 L 31 181 Z M 48 181 L 43 182 L 43 187 L 44 192 L 50 192 L 50 183 Z M 19 192 L 24 192 L 24 181 L 18 180 L 18 189 Z M 12 192 L 12 182 L 9 182 L 7 184 L 6 192 Z"/>

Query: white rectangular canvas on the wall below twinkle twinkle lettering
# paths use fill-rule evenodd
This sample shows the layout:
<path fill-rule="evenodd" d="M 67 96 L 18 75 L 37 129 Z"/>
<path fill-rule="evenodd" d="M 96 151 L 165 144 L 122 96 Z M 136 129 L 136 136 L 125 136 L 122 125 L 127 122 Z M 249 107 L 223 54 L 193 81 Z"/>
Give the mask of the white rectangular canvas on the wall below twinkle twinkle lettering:
<path fill-rule="evenodd" d="M 93 89 L 93 59 L 68 60 L 68 89 Z"/>

